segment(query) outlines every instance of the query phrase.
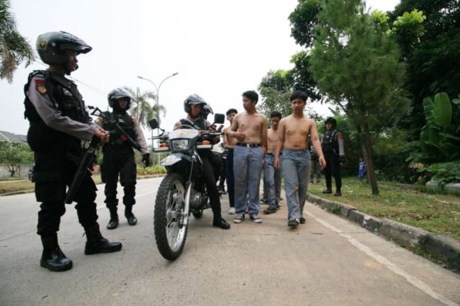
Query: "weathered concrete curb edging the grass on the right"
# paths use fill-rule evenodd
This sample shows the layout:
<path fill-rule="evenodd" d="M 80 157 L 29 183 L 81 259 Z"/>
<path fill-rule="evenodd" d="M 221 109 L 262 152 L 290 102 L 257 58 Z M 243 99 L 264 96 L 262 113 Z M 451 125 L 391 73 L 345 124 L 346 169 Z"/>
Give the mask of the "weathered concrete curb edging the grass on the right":
<path fill-rule="evenodd" d="M 420 249 L 436 262 L 445 264 L 448 269 L 460 271 L 460 242 L 457 240 L 390 219 L 379 219 L 366 215 L 353 206 L 329 201 L 316 195 L 308 194 L 307 200 L 324 210 L 359 224 L 372 233 L 382 235 L 400 246 Z"/>

